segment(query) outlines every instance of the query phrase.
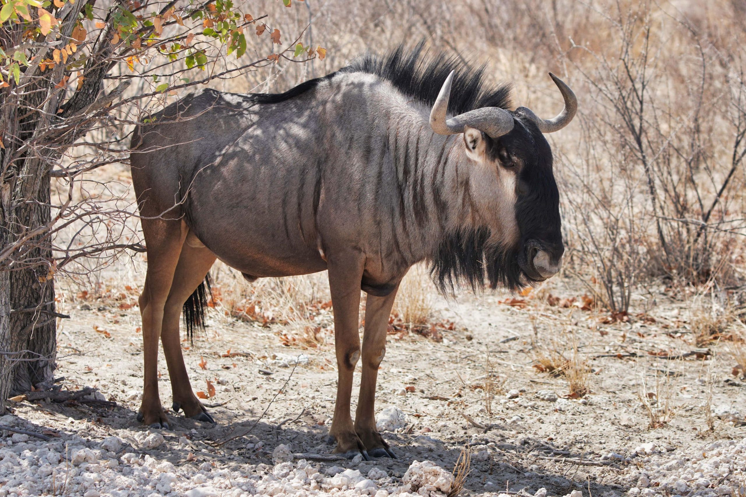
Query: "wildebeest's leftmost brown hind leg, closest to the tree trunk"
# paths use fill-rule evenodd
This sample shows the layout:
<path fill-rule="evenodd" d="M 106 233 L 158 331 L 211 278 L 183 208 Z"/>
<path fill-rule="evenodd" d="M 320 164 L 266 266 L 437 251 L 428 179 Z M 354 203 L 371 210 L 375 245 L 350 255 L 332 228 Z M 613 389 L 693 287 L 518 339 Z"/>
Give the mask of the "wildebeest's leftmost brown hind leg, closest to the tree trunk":
<path fill-rule="evenodd" d="M 142 219 L 142 234 L 147 247 L 148 270 L 140 295 L 144 368 L 142 404 L 137 419 L 146 425 L 168 428 L 168 418 L 158 396 L 158 339 L 163 308 L 169 297 L 186 230 L 178 220 Z"/>

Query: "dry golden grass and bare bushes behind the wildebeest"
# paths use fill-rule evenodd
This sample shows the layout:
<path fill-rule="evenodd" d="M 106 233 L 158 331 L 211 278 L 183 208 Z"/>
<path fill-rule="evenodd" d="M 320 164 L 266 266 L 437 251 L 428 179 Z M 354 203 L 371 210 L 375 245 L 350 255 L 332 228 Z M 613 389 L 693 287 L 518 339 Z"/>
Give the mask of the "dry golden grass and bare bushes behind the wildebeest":
<path fill-rule="evenodd" d="M 742 285 L 745 262 L 746 1 L 306 0 L 288 9 L 265 0 L 254 8 L 284 27 L 283 41 L 300 36 L 306 45 L 325 46 L 327 57 L 280 60 L 210 86 L 281 92 L 363 51 L 421 39 L 433 50 L 484 64 L 495 82 L 512 80 L 515 106 L 541 115 L 557 113 L 559 95 L 546 73 L 560 75 L 580 101 L 571 126 L 548 136 L 562 199 L 564 274 L 583 282 L 619 319 L 648 310 L 634 301 L 633 290 L 663 285 L 695 300 L 718 295 L 719 307 L 694 307 L 703 309 L 693 317 L 703 340 L 720 334 L 718 326 L 736 326 L 739 311 L 729 302 Z M 272 50 L 266 37 L 249 38 L 248 51 Z M 128 131 L 122 127 L 122 136 Z M 126 165 L 108 165 L 74 194 L 131 211 L 128 181 Z M 68 194 L 63 182 L 54 194 Z M 58 250 L 85 237 L 140 238 L 136 219 L 101 233 L 76 229 L 58 236 Z M 134 263 L 125 257 L 107 256 L 98 265 L 81 259 L 78 270 L 69 265 L 70 281 L 93 288 L 90 298 L 105 288 L 95 270 L 114 265 L 127 285 L 140 284 L 143 256 L 131 256 Z M 248 285 L 219 264 L 213 277 L 222 317 L 292 323 L 309 342 L 329 331 L 322 276 Z M 413 268 L 396 312 L 405 323 L 424 323 L 433 293 L 426 270 Z M 74 292 L 64 298 L 75 300 Z"/>

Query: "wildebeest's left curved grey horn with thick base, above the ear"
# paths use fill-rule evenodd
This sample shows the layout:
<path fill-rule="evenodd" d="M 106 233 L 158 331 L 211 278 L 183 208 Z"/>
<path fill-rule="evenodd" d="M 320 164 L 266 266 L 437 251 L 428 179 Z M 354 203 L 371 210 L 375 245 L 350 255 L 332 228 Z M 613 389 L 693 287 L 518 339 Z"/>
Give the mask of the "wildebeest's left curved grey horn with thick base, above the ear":
<path fill-rule="evenodd" d="M 492 138 L 498 138 L 510 133 L 513 129 L 513 115 L 500 107 L 484 107 L 470 110 L 447 119 L 448 98 L 451 96 L 451 83 L 454 81 L 455 71 L 445 78 L 438 98 L 430 111 L 430 127 L 439 135 L 455 135 L 463 133 L 464 127 L 473 127 L 487 133 Z"/>

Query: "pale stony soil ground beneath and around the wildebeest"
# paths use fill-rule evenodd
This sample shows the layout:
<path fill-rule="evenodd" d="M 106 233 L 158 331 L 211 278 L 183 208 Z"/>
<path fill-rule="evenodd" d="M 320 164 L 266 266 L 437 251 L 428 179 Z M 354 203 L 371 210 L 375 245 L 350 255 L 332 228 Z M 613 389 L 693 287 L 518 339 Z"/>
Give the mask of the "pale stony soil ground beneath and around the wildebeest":
<path fill-rule="evenodd" d="M 568 282 L 553 285 L 554 294 L 560 297 L 582 294 L 577 287 L 568 286 Z M 132 291 L 132 295 L 136 294 L 137 291 Z M 539 298 L 528 300 L 526 308 L 518 308 L 500 303 L 506 298 L 504 294 L 481 297 L 462 294 L 455 301 L 439 298 L 433 322 L 451 320 L 456 324 L 454 330 L 442 330 L 441 342 L 414 333 L 389 334 L 386 358 L 379 375 L 377 411 L 393 405 L 407 414 L 405 428 L 383 434 L 398 460 L 377 459 L 359 465 L 347 460 L 311 463 L 322 472 L 335 465 L 342 469 L 354 466 L 363 475 L 373 467 L 383 469 L 387 479 L 378 484 L 388 493 L 396 493 L 395 488 L 401 485 L 399 478 L 413 460 L 432 460 L 450 472 L 465 444 L 471 444 L 473 457 L 464 491 L 473 495 L 506 489 L 533 495 L 541 487 L 545 487 L 550 496 L 564 496 L 572 490 L 580 490 L 583 496 L 589 493 L 602 496 L 609 492 L 650 496 L 715 495 L 713 489 L 720 487 L 718 493 L 723 494 L 726 487 L 736 487 L 739 481 L 745 481 L 746 387 L 741 379 L 731 376 L 734 364 L 724 347 L 710 346 L 715 354 L 705 360 L 695 355 L 674 360 L 648 355 L 648 352 L 678 354 L 695 349 L 687 329 L 691 304 L 659 293 L 655 295 L 658 306 L 649 313 L 656 323 L 633 319 L 632 323 L 605 325 L 599 323 L 603 316 L 592 311 L 552 307 Z M 81 305 L 84 309 L 78 308 Z M 118 458 L 116 470 L 110 473 L 122 473 L 123 479 L 107 481 L 102 478 L 101 482 L 88 484 L 89 489 L 103 495 L 112 490 L 110 495 L 123 496 L 123 489 L 128 489 L 129 495 L 151 495 L 156 492 L 155 479 L 148 480 L 151 478 L 148 472 L 138 469 L 142 467 L 143 454 L 148 454 L 159 463 L 174 464 L 178 482 L 173 484 L 169 495 L 184 495 L 189 488 L 212 485 L 210 491 L 217 493 L 192 493 L 190 496 L 223 493 L 239 496 L 251 491 L 244 492 L 238 487 L 228 490 L 238 483 L 231 484 L 231 478 L 216 474 L 233 472 L 234 476 L 248 477 L 272 471 L 272 451 L 279 444 L 289 444 L 296 453 L 328 455 L 331 452 L 333 446 L 327 446 L 325 440 L 336 389 L 333 344 L 318 348 L 284 346 L 279 337 L 286 331 L 283 326 L 263 327 L 258 323 L 225 319 L 219 316 L 217 309 L 210 310 L 207 338 L 200 338 L 195 346 L 184 351 L 184 355 L 194 389 L 207 391 L 208 380 L 216 387 L 213 398 L 204 402 L 211 406 L 210 413 L 218 424 L 207 425 L 172 415 L 172 429 L 162 431 L 166 443 L 155 449 L 142 449 L 142 439 L 148 428 L 135 420 L 140 405 L 137 395 L 142 387 L 142 342 L 137 331 L 140 315 L 137 307 L 120 310 L 118 305 L 113 301 L 91 300 L 68 304 L 72 319 L 66 320 L 60 332 L 58 360 L 58 375 L 65 377 L 64 388 L 96 387 L 106 399 L 116 402 L 116 406 L 10 403 L 13 414 L 21 418 L 19 425 L 23 425 L 24 420 L 27 422 L 26 429 L 59 431 L 61 437 L 53 438 L 50 446 L 57 452 L 65 452 L 66 441 L 70 447 L 86 443 L 97 447 L 104 437 L 113 435 L 124 441 L 125 446 L 119 452 L 106 455 L 104 451 L 98 456 L 104 460 Z M 90 310 L 85 310 L 86 306 L 90 306 Z M 319 320 L 329 323 L 328 311 L 327 314 L 322 312 Z M 662 328 L 662 324 L 668 329 Z M 569 358 L 571 352 L 562 349 L 568 347 L 571 336 L 568 331 L 577 337 L 580 356 L 592 368 L 591 393 L 583 399 L 562 398 L 568 393 L 567 382 L 532 367 L 536 346 L 550 346 L 553 340 Z M 188 346 L 188 342 L 184 342 L 184 347 Z M 245 354 L 221 357 L 228 349 Z M 629 352 L 637 352 L 642 357 L 625 356 Z M 616 353 L 622 356 L 613 356 Z M 287 363 L 301 354 L 300 364 L 288 380 L 292 365 Z M 201 358 L 207 363 L 206 369 L 199 366 Z M 492 414 L 487 411 L 484 392 L 489 373 L 488 358 L 497 376 L 498 389 L 491 405 Z M 163 405 L 170 406 L 169 376 L 162 354 L 159 370 L 162 373 L 160 396 Z M 655 392 L 656 377 L 659 402 L 668 402 L 674 417 L 662 428 L 651 429 L 639 392 L 642 378 L 648 384 L 648 391 Z M 286 381 L 287 387 L 257 423 Z M 405 387 L 414 387 L 415 391 L 402 396 L 400 390 Z M 508 399 L 508 392 L 514 389 L 519 390 L 519 396 Z M 536 396 L 539 390 L 551 390 L 560 399 L 556 402 L 539 399 Z M 706 422 L 711 408 L 709 391 L 712 391 L 712 408 L 721 416 L 714 418 L 714 432 L 707 430 Z M 252 427 L 248 434 L 225 446 L 210 445 L 242 428 L 246 431 Z M 16 437 L 16 440 L 20 439 Z M 719 466 L 719 472 L 718 464 L 724 462 L 715 460 L 712 463 L 706 459 L 718 452 L 703 455 L 703 452 L 715 450 L 711 444 L 716 440 L 734 440 L 733 443 L 740 445 L 733 451 L 741 454 L 739 458 L 726 460 L 730 466 L 726 469 Z M 652 443 L 646 446 L 651 454 L 645 454 L 640 448 L 643 443 Z M 12 449 L 12 445 L 6 449 Z M 739 448 L 741 446 L 743 449 Z M 553 449 L 556 452 L 553 453 Z M 122 459 L 128 452 L 140 459 L 140 466 L 129 456 Z M 609 457 L 609 453 L 613 455 Z M 580 458 L 594 465 L 551 460 L 552 455 Z M 669 463 L 665 470 L 656 472 L 656 465 L 671 460 L 680 463 Z M 40 466 L 43 462 L 32 460 L 29 467 Z M 715 469 L 708 473 L 699 467 L 706 462 Z M 68 472 L 72 468 L 75 477 L 75 466 L 65 466 L 63 460 L 57 467 L 60 471 L 67 468 Z M 122 469 L 127 467 L 134 467 L 134 473 Z M 0 468 L 7 469 L 0 472 L 0 482 L 5 484 L 13 468 L 12 465 L 7 468 L 0 465 Z M 220 473 L 221 469 L 229 471 Z M 688 474 L 687 469 L 690 470 Z M 700 469 L 703 475 L 695 475 Z M 195 477 L 198 473 L 203 476 Z M 71 477 L 71 486 L 72 481 L 81 481 L 80 468 L 77 474 L 77 480 Z M 637 487 L 641 474 L 650 480 L 648 488 L 644 487 L 645 482 Z M 57 487 L 60 478 L 58 475 Z M 702 478 L 707 480 L 707 485 L 702 481 L 695 484 Z M 671 485 L 678 480 L 686 483 L 686 490 L 680 485 L 677 490 L 671 490 Z M 140 483 L 135 485 L 134 481 Z M 695 492 L 698 487 L 700 491 Z M 85 485 L 70 487 L 68 491 L 70 495 L 83 495 L 84 490 Z"/>

